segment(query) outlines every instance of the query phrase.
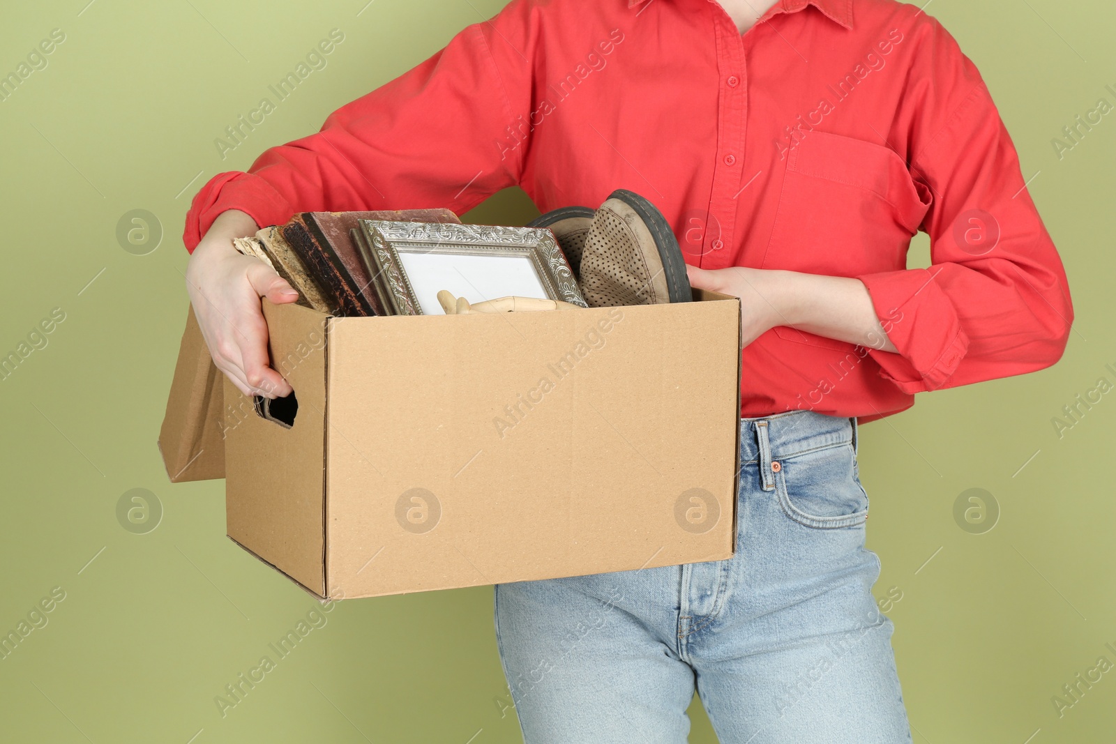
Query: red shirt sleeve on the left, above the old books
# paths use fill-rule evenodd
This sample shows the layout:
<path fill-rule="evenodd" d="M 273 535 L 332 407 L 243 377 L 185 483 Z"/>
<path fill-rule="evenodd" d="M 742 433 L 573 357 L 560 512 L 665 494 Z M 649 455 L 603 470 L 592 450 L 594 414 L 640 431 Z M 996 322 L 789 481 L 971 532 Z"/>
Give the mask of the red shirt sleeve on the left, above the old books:
<path fill-rule="evenodd" d="M 247 173 L 221 173 L 194 196 L 183 242 L 217 216 L 259 225 L 296 212 L 448 207 L 464 212 L 519 183 L 529 110 L 531 15 L 512 2 L 466 27 L 426 61 L 334 112 L 319 132 L 266 151 Z"/>

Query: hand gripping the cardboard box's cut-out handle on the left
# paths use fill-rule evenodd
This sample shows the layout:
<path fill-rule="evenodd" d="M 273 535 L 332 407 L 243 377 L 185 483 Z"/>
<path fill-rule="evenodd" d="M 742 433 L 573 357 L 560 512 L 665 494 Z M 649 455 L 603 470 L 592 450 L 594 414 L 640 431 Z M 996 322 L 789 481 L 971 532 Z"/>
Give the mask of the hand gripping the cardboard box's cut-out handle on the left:
<path fill-rule="evenodd" d="M 186 290 L 213 364 L 244 395 L 282 397 L 291 392 L 268 366 L 268 325 L 260 298 L 280 305 L 298 292 L 259 259 L 240 253 L 233 238 L 259 230 L 239 210 L 222 212 L 194 249 L 186 265 Z"/>

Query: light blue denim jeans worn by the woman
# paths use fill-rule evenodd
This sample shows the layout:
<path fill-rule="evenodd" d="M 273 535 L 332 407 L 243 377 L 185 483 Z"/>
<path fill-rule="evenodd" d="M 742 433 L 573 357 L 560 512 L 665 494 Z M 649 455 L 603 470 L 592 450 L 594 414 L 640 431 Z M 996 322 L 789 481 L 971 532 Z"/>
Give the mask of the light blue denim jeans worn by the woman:
<path fill-rule="evenodd" d="M 740 425 L 731 559 L 496 587 L 527 744 L 682 744 L 695 687 L 722 744 L 911 742 L 855 421 Z"/>

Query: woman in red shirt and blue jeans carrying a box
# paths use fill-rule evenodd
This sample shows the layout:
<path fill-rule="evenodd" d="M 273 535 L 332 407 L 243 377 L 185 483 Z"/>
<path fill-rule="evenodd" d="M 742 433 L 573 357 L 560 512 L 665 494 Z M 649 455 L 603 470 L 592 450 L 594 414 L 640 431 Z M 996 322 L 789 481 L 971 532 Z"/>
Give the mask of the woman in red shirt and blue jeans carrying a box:
<path fill-rule="evenodd" d="M 972 62 L 891 0 L 514 0 L 195 196 L 187 286 L 218 366 L 286 395 L 231 238 L 295 211 L 543 211 L 647 196 L 691 283 L 741 298 L 738 552 L 496 588 L 527 742 L 907 742 L 870 593 L 856 427 L 1057 361 L 1066 277 Z M 933 265 L 906 269 L 918 230 Z M 203 236 L 204 235 L 204 236 Z M 196 248 L 195 248 L 196 247 Z"/>

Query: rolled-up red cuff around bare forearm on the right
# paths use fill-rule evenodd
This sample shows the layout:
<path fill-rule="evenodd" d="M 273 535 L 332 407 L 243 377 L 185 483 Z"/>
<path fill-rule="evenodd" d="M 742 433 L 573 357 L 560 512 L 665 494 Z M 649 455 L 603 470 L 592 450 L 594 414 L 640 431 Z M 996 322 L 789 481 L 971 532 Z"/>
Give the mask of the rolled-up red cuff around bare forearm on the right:
<path fill-rule="evenodd" d="M 897 352 L 869 349 L 879 376 L 907 395 L 945 386 L 969 350 L 958 312 L 933 269 L 857 277 Z"/>

